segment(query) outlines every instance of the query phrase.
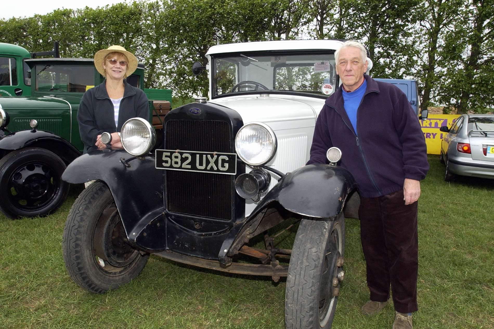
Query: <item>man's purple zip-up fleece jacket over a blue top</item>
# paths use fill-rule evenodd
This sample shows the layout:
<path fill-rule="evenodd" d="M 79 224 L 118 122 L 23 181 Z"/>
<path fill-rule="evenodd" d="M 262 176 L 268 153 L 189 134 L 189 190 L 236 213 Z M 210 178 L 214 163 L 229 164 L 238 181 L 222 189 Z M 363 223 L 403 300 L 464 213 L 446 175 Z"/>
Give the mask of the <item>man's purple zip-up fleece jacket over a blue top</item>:
<path fill-rule="evenodd" d="M 355 135 L 343 107 L 342 86 L 319 114 L 307 164 L 326 164 L 326 151 L 338 147 L 340 165 L 357 181 L 360 195 L 375 198 L 403 189 L 405 178 L 425 178 L 425 139 L 407 96 L 391 83 L 364 75 L 367 89 L 357 112 Z"/>

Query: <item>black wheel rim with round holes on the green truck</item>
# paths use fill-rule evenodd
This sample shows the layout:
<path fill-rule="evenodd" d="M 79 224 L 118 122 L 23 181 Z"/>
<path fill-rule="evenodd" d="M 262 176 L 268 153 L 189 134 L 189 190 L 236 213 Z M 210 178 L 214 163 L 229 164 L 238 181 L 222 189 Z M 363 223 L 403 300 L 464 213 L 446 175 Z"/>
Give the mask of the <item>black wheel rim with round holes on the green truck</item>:
<path fill-rule="evenodd" d="M 6 188 L 12 206 L 37 211 L 53 201 L 60 189 L 60 178 L 48 164 L 32 161 L 15 168 Z"/>

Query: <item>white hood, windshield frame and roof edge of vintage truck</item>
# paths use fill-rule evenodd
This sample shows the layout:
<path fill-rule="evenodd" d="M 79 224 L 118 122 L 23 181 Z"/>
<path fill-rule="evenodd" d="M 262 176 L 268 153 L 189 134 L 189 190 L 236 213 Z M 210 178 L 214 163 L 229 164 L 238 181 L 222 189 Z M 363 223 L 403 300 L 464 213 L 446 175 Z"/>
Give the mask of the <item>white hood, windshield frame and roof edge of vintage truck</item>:
<path fill-rule="evenodd" d="M 211 62 L 211 55 L 227 55 L 228 53 L 242 53 L 255 51 L 284 51 L 308 50 L 315 51 L 338 49 L 342 41 L 337 40 L 295 40 L 295 41 L 258 41 L 221 44 L 212 46 L 206 53 Z M 232 95 L 214 97 L 211 99 L 212 70 L 206 65 L 209 77 L 209 101 L 226 106 L 239 113 L 244 124 L 251 122 L 265 123 L 273 129 L 278 141 L 278 149 L 273 159 L 266 164 L 283 173 L 290 172 L 307 163 L 310 158 L 310 147 L 314 135 L 317 117 L 324 106 L 326 98 L 314 97 L 302 93 L 275 93 L 259 90 L 258 94 Z M 263 81 L 258 81 L 263 83 Z M 251 169 L 247 166 L 246 172 Z M 265 195 L 273 188 L 280 178 L 270 172 L 271 183 L 269 188 L 261 194 Z M 257 206 L 252 200 L 246 200 L 245 215 L 248 216 Z"/>

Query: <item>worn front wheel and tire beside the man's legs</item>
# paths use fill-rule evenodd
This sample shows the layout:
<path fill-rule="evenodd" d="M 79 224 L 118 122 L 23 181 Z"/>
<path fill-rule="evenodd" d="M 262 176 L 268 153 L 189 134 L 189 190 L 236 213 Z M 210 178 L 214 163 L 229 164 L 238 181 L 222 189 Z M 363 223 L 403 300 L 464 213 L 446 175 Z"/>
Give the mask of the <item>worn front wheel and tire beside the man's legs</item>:
<path fill-rule="evenodd" d="M 287 329 L 331 328 L 344 278 L 345 247 L 343 213 L 332 219 L 300 221 L 288 266 Z"/>

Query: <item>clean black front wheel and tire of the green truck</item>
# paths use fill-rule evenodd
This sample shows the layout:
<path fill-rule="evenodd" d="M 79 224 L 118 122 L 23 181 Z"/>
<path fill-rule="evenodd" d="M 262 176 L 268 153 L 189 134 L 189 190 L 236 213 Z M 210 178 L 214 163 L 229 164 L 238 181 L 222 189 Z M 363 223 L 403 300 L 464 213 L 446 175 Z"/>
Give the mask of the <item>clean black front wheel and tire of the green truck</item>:
<path fill-rule="evenodd" d="M 70 184 L 65 163 L 55 153 L 29 147 L 0 160 L 0 210 L 7 217 L 45 216 L 63 204 Z"/>

